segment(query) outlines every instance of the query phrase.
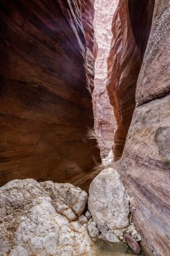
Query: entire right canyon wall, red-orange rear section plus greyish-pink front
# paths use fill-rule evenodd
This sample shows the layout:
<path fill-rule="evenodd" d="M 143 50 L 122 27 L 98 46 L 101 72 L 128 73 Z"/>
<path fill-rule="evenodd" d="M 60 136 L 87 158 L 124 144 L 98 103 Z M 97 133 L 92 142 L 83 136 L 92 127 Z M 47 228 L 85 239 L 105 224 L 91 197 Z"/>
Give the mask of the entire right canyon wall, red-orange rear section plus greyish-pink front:
<path fill-rule="evenodd" d="M 119 159 L 124 150 L 121 179 L 136 197 L 142 248 L 154 256 L 170 251 L 169 28 L 169 1 L 120 0 L 108 59 L 108 92 L 118 123 L 114 156 Z"/>

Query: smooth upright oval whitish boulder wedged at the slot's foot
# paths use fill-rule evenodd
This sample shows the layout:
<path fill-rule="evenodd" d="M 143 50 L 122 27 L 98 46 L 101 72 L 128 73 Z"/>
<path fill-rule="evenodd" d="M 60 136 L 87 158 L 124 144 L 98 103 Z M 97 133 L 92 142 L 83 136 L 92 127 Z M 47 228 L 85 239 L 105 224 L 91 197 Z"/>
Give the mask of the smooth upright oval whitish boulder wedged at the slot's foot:
<path fill-rule="evenodd" d="M 116 170 L 105 168 L 95 177 L 88 207 L 97 225 L 107 224 L 110 230 L 128 226 L 129 197 Z"/>

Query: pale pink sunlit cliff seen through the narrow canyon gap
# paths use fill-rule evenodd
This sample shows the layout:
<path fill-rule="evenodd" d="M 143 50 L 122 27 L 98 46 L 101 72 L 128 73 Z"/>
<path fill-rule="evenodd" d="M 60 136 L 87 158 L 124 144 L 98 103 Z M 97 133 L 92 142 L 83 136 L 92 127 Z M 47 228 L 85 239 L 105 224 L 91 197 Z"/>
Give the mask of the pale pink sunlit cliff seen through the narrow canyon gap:
<path fill-rule="evenodd" d="M 95 38 L 98 44 L 95 60 L 95 82 L 93 90 L 93 110 L 95 133 L 101 150 L 101 156 L 108 156 L 112 149 L 116 119 L 106 89 L 108 65 L 107 59 L 112 39 L 112 18 L 118 0 L 95 0 Z"/>

